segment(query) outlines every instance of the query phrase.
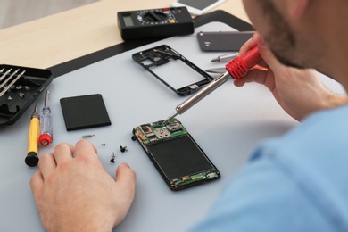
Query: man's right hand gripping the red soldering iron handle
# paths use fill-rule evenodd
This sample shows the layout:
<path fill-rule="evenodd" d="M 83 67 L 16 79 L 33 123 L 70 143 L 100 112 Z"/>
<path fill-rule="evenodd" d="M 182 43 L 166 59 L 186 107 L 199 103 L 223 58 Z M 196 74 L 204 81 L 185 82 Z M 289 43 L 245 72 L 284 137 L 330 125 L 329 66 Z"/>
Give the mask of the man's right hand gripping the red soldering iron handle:
<path fill-rule="evenodd" d="M 259 65 L 264 69 L 249 70 L 243 78 L 234 81 L 236 87 L 247 82 L 268 87 L 278 104 L 295 120 L 348 102 L 346 95 L 334 95 L 328 91 L 319 81 L 316 70 L 299 70 L 278 62 L 257 33 L 241 47 L 240 54 L 256 45 L 263 59 Z"/>

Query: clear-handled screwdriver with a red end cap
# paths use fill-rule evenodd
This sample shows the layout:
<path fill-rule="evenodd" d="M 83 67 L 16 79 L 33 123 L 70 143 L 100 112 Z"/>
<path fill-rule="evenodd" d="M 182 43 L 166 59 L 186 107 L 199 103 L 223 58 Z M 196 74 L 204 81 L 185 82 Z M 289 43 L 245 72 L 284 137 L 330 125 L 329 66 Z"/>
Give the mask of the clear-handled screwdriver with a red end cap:
<path fill-rule="evenodd" d="M 49 102 L 50 91 L 46 91 L 45 95 L 45 106 L 42 108 L 42 116 L 40 120 L 40 137 L 38 137 L 38 142 L 40 145 L 50 145 L 53 141 L 53 125 L 52 125 L 52 115 Z"/>

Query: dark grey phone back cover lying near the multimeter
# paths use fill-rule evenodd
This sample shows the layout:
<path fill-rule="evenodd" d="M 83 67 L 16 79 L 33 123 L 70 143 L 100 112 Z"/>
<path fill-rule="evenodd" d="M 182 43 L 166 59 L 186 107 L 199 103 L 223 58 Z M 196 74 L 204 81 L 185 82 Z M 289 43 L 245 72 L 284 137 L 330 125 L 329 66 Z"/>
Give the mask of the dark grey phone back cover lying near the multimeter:
<path fill-rule="evenodd" d="M 238 52 L 254 31 L 207 31 L 198 32 L 197 38 L 203 51 Z"/>

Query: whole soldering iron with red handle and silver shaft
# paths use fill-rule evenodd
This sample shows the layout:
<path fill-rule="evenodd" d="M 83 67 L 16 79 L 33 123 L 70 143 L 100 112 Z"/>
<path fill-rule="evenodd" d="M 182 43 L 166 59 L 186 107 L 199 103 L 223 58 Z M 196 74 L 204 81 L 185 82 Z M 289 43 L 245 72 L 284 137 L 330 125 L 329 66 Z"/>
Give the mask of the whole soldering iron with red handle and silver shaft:
<path fill-rule="evenodd" d="M 223 73 L 219 78 L 211 81 L 211 83 L 209 83 L 206 87 L 203 87 L 203 89 L 201 89 L 195 95 L 192 95 L 191 97 L 186 99 L 186 101 L 184 101 L 183 103 L 178 104 L 178 106 L 175 108 L 176 112 L 174 112 L 170 115 L 170 117 L 164 120 L 163 124 L 167 124 L 170 119 L 174 118 L 178 114 L 183 114 L 184 112 L 186 112 L 192 106 L 201 101 L 205 96 L 211 94 L 212 91 L 227 82 L 230 76 L 233 79 L 240 79 L 241 77 L 243 77 L 250 68 L 252 68 L 257 62 L 260 61 L 260 59 L 261 55 L 259 54 L 259 50 L 257 46 L 254 46 L 246 54 L 238 56 L 231 62 L 228 62 L 228 64 L 226 64 L 225 66 L 227 70 L 225 73 Z"/>

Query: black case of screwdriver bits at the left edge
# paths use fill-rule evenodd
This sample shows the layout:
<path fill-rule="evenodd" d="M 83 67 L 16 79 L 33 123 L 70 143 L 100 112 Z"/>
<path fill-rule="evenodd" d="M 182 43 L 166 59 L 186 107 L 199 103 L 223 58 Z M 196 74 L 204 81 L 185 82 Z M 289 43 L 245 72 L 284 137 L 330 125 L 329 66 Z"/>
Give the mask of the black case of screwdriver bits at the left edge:
<path fill-rule="evenodd" d="M 0 64 L 0 125 L 12 125 L 52 82 L 49 70 Z"/>

